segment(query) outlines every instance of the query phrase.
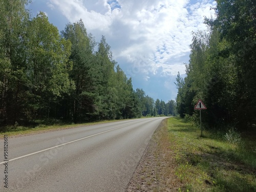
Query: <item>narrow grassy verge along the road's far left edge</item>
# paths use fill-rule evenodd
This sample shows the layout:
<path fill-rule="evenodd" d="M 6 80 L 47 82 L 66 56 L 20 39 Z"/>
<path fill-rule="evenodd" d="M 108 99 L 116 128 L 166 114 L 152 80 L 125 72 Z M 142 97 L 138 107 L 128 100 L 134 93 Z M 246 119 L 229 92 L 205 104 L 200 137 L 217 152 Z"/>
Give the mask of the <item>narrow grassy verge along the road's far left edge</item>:
<path fill-rule="evenodd" d="M 124 121 L 125 119 L 121 120 L 111 120 L 111 121 L 101 121 L 101 122 L 93 122 L 93 123 L 84 123 L 84 124 L 55 124 L 55 125 L 38 125 L 36 127 L 23 127 L 23 126 L 10 126 L 5 127 L 7 131 L 0 131 L 0 138 L 3 138 L 4 135 L 8 135 L 9 137 L 15 137 L 19 135 L 30 135 L 42 132 L 50 132 L 50 131 L 57 131 L 61 129 L 72 129 L 81 126 L 90 126 L 90 125 L 97 125 L 102 123 L 111 123 L 111 122 L 118 122 Z"/>

